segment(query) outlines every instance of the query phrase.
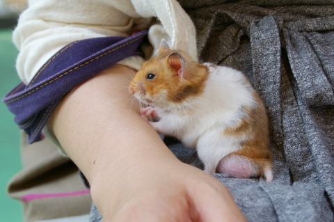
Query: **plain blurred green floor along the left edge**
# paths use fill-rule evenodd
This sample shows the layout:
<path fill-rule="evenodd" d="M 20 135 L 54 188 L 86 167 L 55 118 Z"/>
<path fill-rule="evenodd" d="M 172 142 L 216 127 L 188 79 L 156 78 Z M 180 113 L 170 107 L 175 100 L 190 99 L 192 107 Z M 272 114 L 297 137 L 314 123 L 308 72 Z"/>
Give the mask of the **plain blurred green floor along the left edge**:
<path fill-rule="evenodd" d="M 17 50 L 11 41 L 11 29 L 0 29 L 0 96 L 19 83 L 15 71 Z M 22 221 L 22 208 L 18 200 L 6 195 L 10 177 L 21 168 L 19 159 L 19 129 L 13 114 L 0 102 L 0 221 Z"/>

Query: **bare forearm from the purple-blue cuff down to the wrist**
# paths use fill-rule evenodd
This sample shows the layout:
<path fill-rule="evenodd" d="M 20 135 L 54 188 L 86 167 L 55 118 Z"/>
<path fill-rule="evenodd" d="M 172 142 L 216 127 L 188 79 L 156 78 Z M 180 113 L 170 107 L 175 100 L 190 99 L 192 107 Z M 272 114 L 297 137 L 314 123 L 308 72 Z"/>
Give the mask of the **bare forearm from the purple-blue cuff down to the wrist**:
<path fill-rule="evenodd" d="M 175 159 L 163 148 L 152 127 L 136 113 L 127 93 L 133 74 L 134 70 L 122 65 L 102 72 L 67 95 L 49 122 L 67 155 L 88 178 L 93 198 L 95 182 L 100 187 L 110 177 L 118 181 L 110 182 L 112 190 L 111 186 L 120 185 L 120 178 L 129 168 L 139 170 L 145 164 L 152 168 L 157 164 L 152 161 Z"/>

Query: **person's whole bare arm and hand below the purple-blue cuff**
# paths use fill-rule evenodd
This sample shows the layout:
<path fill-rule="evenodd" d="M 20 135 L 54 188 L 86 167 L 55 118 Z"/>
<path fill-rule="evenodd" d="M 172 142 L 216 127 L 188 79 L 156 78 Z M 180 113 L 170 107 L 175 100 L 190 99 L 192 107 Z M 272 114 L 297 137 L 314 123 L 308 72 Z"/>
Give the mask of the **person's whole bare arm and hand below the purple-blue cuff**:
<path fill-rule="evenodd" d="M 72 90 L 49 125 L 86 175 L 104 221 L 246 221 L 229 191 L 183 164 L 141 118 L 122 65 Z"/>

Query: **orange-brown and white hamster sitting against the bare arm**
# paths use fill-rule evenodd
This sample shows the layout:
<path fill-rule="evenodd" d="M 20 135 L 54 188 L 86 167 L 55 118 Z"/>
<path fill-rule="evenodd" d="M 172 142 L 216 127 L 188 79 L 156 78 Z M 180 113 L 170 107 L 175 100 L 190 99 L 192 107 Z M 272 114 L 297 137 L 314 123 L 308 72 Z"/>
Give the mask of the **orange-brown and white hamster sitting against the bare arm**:
<path fill-rule="evenodd" d="M 129 84 L 157 132 L 196 148 L 207 173 L 273 180 L 267 112 L 244 74 L 162 43 Z"/>

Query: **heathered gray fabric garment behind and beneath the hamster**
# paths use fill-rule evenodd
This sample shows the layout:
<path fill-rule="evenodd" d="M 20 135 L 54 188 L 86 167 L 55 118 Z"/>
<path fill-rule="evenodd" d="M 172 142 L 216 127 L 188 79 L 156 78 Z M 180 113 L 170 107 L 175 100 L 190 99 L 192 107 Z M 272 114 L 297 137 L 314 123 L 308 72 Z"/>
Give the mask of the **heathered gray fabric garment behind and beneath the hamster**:
<path fill-rule="evenodd" d="M 213 176 L 248 221 L 333 221 L 333 1 L 180 3 L 196 26 L 200 60 L 244 72 L 269 115 L 273 182 Z M 169 147 L 201 167 L 193 150 Z M 94 207 L 91 215 L 100 221 Z"/>

